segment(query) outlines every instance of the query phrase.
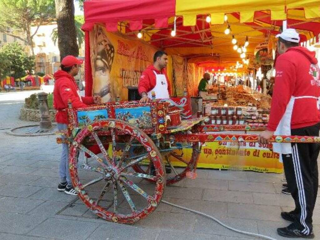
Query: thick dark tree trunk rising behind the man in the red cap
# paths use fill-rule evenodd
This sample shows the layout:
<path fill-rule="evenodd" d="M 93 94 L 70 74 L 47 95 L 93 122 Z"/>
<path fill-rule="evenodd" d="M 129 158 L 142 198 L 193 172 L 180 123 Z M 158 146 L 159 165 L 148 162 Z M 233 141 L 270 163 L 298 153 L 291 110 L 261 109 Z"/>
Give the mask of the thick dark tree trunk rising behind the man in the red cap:
<path fill-rule="evenodd" d="M 67 55 L 77 57 L 79 47 L 76 38 L 75 6 L 73 0 L 55 0 L 58 25 L 60 60 Z"/>

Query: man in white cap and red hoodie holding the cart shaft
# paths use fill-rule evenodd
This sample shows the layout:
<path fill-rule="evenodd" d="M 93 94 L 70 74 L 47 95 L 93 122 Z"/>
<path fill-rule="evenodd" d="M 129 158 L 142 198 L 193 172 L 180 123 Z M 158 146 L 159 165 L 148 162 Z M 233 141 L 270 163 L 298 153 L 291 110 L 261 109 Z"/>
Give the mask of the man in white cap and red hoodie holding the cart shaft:
<path fill-rule="evenodd" d="M 299 46 L 300 37 L 294 29 L 286 29 L 276 37 L 281 55 L 276 59 L 270 119 L 260 142 L 267 143 L 272 135 L 319 136 L 320 70 L 315 52 Z M 314 238 L 312 214 L 318 191 L 319 150 L 316 143 L 273 144 L 273 151 L 283 160 L 295 202 L 293 211 L 281 212 L 281 217 L 292 224 L 278 228 L 280 236 Z"/>

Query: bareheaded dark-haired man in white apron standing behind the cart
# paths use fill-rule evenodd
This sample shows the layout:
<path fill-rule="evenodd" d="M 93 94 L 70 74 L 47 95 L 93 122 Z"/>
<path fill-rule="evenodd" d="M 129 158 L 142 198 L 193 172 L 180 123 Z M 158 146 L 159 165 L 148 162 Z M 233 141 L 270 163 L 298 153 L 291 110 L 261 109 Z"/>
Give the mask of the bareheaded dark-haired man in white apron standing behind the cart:
<path fill-rule="evenodd" d="M 138 91 L 141 103 L 151 99 L 151 92 L 156 93 L 157 99 L 169 98 L 171 86 L 166 73 L 168 55 L 164 51 L 157 51 L 153 56 L 153 65 L 148 66 L 140 76 Z"/>

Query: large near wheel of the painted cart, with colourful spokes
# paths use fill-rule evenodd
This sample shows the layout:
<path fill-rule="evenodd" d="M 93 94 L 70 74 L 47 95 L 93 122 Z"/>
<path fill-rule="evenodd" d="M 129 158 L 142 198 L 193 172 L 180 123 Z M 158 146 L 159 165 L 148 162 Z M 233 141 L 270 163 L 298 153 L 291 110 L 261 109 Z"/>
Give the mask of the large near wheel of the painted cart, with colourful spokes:
<path fill-rule="evenodd" d="M 105 149 L 109 143 L 112 149 Z M 134 143 L 143 146 L 145 156 L 128 158 Z M 92 144 L 99 146 L 100 154 L 88 149 Z M 119 144 L 124 147 L 119 149 Z M 90 161 L 78 164 L 79 150 L 89 154 Z M 79 198 L 99 217 L 134 223 L 155 211 L 161 201 L 166 182 L 162 157 L 153 141 L 140 129 L 116 119 L 94 122 L 76 135 L 69 153 L 72 184 Z M 132 170 L 132 165 L 146 156 L 155 166 L 155 175 Z M 78 171 L 78 168 L 88 171 Z M 156 184 L 141 184 L 145 178 Z"/>

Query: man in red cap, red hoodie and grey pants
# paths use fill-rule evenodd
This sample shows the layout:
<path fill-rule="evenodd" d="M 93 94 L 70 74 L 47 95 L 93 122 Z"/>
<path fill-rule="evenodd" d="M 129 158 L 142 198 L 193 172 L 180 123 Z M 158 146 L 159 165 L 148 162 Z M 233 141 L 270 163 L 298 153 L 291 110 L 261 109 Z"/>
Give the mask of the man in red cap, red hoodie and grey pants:
<path fill-rule="evenodd" d="M 53 106 L 57 110 L 56 122 L 59 130 L 66 130 L 68 124 L 68 116 L 66 109 L 68 108 L 68 100 L 71 100 L 73 108 L 85 108 L 88 104 L 97 103 L 100 96 L 80 97 L 79 89 L 76 85 L 74 76 L 79 72 L 82 60 L 74 56 L 66 56 L 61 61 L 61 70 L 54 73 L 54 89 L 53 89 Z M 77 195 L 69 175 L 68 166 L 69 149 L 68 144 L 62 144 L 62 154 L 59 165 L 60 183 L 58 191 L 64 191 L 69 195 Z"/>

